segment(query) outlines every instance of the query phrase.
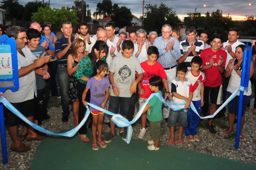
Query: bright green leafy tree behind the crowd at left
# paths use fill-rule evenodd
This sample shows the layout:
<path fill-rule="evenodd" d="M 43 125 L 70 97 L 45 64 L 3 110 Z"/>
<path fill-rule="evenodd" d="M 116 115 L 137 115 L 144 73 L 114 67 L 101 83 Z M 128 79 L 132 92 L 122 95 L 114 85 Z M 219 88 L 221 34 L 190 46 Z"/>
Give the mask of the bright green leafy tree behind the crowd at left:
<path fill-rule="evenodd" d="M 52 31 L 59 31 L 62 26 L 61 23 L 65 20 L 71 21 L 73 26 L 78 24 L 76 11 L 68 11 L 64 6 L 61 9 L 52 9 L 49 5 L 46 5 L 45 8 L 39 7 L 38 11 L 32 14 L 31 19 L 40 23 L 50 21 L 52 23 Z"/>

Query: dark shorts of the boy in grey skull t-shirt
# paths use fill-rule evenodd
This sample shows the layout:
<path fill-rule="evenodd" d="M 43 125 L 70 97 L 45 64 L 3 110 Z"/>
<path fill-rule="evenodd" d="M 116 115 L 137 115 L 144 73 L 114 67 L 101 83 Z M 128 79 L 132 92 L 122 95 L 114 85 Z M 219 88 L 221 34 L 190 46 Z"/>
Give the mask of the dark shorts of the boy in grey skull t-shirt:
<path fill-rule="evenodd" d="M 108 111 L 117 114 L 119 102 L 120 102 L 120 115 L 127 116 L 129 113 L 131 98 L 110 96 Z M 108 116 L 111 117 L 111 115 L 108 115 Z"/>

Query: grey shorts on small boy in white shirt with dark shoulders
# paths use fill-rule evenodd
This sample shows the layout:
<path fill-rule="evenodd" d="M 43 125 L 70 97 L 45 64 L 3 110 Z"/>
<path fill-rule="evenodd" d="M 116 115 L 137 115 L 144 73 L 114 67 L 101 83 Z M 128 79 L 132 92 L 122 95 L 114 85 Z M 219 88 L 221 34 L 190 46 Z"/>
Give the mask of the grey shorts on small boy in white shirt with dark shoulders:
<path fill-rule="evenodd" d="M 184 112 L 184 109 L 181 110 L 171 110 L 169 113 L 167 124 L 168 126 L 176 126 L 178 121 L 178 126 L 186 127 L 188 124 L 187 121 L 187 112 Z"/>

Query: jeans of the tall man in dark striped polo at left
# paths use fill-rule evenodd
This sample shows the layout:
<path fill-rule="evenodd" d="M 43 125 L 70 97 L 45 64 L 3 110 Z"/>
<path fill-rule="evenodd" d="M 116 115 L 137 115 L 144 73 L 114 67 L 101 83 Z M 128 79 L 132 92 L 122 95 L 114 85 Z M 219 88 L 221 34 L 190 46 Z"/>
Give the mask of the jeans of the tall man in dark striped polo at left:
<path fill-rule="evenodd" d="M 60 86 L 60 90 L 61 90 L 61 106 L 62 106 L 62 110 L 63 116 L 68 116 L 70 111 L 69 111 L 69 75 L 67 74 L 67 68 L 63 67 L 63 66 L 58 66 L 58 71 L 57 71 L 57 76 L 59 79 L 59 86 Z"/>

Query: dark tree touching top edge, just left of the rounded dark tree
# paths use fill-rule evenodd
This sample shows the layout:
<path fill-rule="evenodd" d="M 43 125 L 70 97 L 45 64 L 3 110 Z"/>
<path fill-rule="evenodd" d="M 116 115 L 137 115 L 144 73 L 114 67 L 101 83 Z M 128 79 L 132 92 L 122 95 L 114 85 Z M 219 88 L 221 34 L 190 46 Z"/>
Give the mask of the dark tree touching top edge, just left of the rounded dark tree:
<path fill-rule="evenodd" d="M 109 17 L 113 14 L 113 8 L 116 8 L 118 5 L 114 4 L 112 6 L 111 0 L 102 0 L 97 4 L 96 12 L 93 13 L 93 17 L 96 19 Z"/>

